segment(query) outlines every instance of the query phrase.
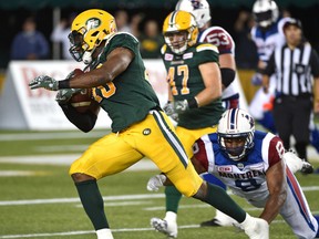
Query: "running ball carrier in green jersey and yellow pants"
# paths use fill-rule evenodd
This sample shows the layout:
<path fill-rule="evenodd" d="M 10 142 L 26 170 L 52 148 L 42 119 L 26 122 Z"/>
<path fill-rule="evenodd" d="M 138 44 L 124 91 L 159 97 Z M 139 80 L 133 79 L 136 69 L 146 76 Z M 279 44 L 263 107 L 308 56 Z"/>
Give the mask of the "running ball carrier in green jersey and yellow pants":
<path fill-rule="evenodd" d="M 68 97 L 76 92 L 74 89 L 92 89 L 94 100 L 112 119 L 112 133 L 93 143 L 70 168 L 97 238 L 112 239 L 113 236 L 96 180 L 123 172 L 144 156 L 154 162 L 183 195 L 220 209 L 241 222 L 247 235 L 256 235 L 259 219 L 246 214 L 223 189 L 204 183 L 189 163 L 174 125 L 161 110 L 147 82 L 138 41 L 128 33 L 117 32 L 113 15 L 99 9 L 80 13 L 73 20 L 69 39 L 71 54 L 88 64 L 88 71 L 61 81 L 40 75 L 29 86 L 60 90 L 56 100 L 64 114 L 82 131 L 94 127 L 99 111 L 76 112 L 68 103 Z M 198 100 L 200 106 L 200 97 Z"/>

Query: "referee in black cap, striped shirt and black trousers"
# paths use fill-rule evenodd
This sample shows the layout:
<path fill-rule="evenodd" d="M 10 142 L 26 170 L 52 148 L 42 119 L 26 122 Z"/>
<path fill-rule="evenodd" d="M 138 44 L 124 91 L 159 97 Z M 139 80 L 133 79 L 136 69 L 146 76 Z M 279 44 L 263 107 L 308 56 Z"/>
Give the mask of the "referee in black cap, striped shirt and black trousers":
<path fill-rule="evenodd" d="M 290 148 L 292 135 L 297 154 L 308 160 L 312 107 L 313 113 L 319 113 L 319 58 L 303 39 L 299 20 L 287 20 L 284 33 L 286 44 L 272 52 L 263 75 L 263 86 L 264 91 L 268 92 L 269 77 L 275 73 L 275 126 L 285 148 Z"/>

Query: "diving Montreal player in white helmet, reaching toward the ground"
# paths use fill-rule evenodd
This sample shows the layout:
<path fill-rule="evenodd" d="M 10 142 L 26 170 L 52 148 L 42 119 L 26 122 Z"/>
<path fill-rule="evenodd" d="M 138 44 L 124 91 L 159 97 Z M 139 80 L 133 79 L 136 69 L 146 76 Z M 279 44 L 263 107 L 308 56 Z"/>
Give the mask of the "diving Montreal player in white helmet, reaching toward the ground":
<path fill-rule="evenodd" d="M 311 215 L 302 189 L 287 164 L 298 159 L 297 156 L 285 152 L 278 136 L 255 132 L 254 118 L 247 112 L 227 110 L 217 133 L 200 137 L 194 145 L 194 154 L 198 173 L 214 174 L 235 195 L 264 208 L 259 218 L 268 225 L 280 214 L 298 238 L 319 238 L 319 217 Z M 155 183 L 152 177 L 147 189 L 157 190 L 165 183 L 164 178 Z"/>

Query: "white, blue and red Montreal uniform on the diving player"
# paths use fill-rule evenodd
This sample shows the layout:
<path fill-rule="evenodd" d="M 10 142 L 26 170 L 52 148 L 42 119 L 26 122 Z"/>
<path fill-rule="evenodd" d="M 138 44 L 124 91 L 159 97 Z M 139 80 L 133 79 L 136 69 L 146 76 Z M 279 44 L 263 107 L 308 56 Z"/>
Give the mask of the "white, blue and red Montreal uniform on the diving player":
<path fill-rule="evenodd" d="M 219 148 L 217 134 L 200 137 L 194 146 L 194 156 L 209 174 L 217 176 L 235 195 L 255 207 L 264 208 L 269 197 L 267 170 L 281 160 L 282 142 L 271 133 L 255 132 L 254 148 L 245 160 L 234 162 Z M 279 214 L 298 238 L 318 236 L 318 219 L 309 209 L 302 189 L 286 167 L 287 198 Z"/>

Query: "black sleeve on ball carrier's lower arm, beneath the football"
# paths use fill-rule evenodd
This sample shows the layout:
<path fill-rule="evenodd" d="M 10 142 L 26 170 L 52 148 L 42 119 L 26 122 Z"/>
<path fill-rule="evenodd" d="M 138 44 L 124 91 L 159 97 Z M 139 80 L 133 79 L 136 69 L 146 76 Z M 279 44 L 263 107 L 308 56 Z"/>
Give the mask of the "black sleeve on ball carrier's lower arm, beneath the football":
<path fill-rule="evenodd" d="M 70 104 L 59 104 L 66 118 L 74 124 L 82 132 L 90 132 L 96 122 L 97 115 L 88 111 L 86 113 L 79 113 Z"/>

